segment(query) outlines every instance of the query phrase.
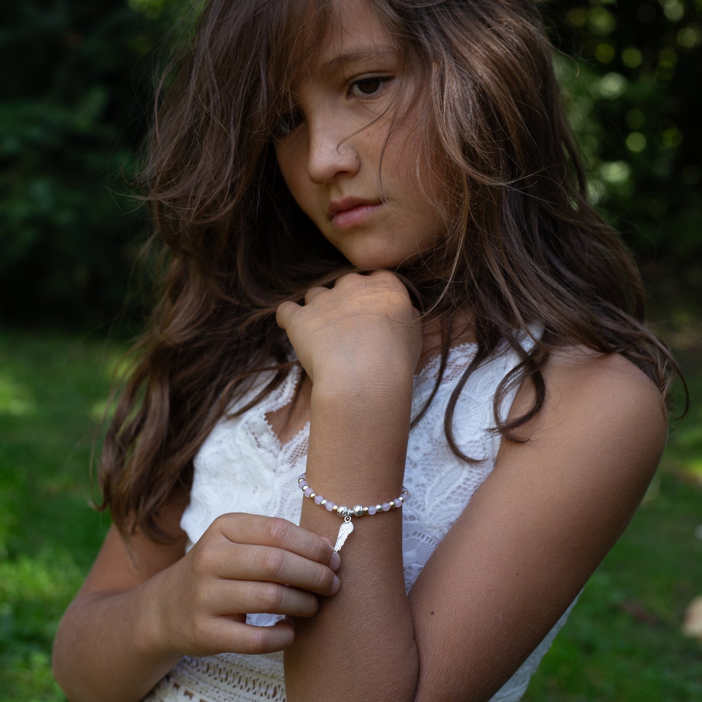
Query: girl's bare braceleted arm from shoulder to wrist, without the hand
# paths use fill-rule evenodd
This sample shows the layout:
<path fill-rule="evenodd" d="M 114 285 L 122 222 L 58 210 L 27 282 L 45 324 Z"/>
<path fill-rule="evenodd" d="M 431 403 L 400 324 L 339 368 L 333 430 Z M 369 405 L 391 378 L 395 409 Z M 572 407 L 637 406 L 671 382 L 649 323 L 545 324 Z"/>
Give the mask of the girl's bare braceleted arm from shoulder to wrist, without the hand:
<path fill-rule="evenodd" d="M 402 481 L 406 381 L 384 371 L 370 378 L 375 390 L 347 385 L 339 372 L 333 383 L 312 378 L 307 475 L 337 502 L 367 504 Z M 640 502 L 665 417 L 654 385 L 621 357 L 564 353 L 545 380 L 548 400 L 524 428 L 530 441 L 503 442 L 494 472 L 409 597 L 399 513 L 357 520 L 338 596 L 298 625 L 286 651 L 291 702 L 321 702 L 330 691 L 488 700 L 552 628 Z M 525 385 L 512 414 L 530 401 Z M 304 505 L 303 526 L 336 533 L 338 517 Z"/>

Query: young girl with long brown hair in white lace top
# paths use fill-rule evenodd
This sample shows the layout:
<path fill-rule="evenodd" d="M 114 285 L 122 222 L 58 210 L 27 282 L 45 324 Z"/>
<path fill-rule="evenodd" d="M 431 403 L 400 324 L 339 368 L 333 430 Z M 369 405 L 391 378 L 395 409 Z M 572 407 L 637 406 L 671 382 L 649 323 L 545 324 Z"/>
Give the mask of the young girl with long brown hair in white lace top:
<path fill-rule="evenodd" d="M 170 263 L 59 683 L 519 700 L 649 484 L 673 367 L 534 4 L 211 0 L 164 86 Z"/>

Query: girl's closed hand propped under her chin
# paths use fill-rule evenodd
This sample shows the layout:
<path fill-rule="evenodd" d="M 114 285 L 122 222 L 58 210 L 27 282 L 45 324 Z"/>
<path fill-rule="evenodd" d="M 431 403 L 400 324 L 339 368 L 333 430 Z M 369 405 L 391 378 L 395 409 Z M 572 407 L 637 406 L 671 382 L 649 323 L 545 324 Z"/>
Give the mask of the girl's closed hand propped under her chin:
<path fill-rule="evenodd" d="M 405 286 L 386 270 L 346 274 L 331 289 L 311 288 L 304 305 L 288 301 L 276 312 L 312 383 L 340 373 L 411 378 L 422 348 L 418 317 Z"/>

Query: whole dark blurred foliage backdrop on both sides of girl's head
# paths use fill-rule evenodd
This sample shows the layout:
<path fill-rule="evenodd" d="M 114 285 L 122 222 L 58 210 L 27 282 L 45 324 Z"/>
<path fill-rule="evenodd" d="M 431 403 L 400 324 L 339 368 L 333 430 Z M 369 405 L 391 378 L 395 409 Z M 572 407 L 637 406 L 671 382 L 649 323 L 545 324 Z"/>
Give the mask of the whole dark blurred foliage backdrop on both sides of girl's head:
<path fill-rule="evenodd" d="M 152 49 L 186 0 L 25 0 L 1 11 L 0 318 L 91 324 L 124 305 L 147 232 L 126 197 Z M 702 285 L 702 0 L 545 4 L 593 199 L 660 289 Z M 167 48 L 167 47 L 166 47 Z M 167 51 L 166 51 L 167 53 Z M 132 286 L 134 287 L 134 286 Z M 129 301 L 138 310 L 138 296 Z"/>

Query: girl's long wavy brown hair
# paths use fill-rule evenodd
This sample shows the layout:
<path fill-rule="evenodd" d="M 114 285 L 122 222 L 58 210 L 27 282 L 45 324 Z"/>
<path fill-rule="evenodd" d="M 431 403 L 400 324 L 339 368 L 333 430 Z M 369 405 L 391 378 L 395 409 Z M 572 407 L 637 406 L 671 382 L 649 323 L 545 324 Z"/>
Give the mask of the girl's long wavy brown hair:
<path fill-rule="evenodd" d="M 424 153 L 447 164 L 444 244 L 398 272 L 420 309 L 450 320 L 470 303 L 475 315 L 477 354 L 445 417 L 453 451 L 471 461 L 453 439 L 453 411 L 501 344 L 519 356 L 494 400 L 495 430 L 508 438 L 543 404 L 541 369 L 562 345 L 621 353 L 665 396 L 677 366 L 644 326 L 630 254 L 585 197 L 534 2 L 368 1 L 422 76 Z M 286 86 L 333 17 L 327 0 L 211 0 L 159 84 L 142 183 L 169 263 L 100 467 L 101 507 L 123 533 L 163 538 L 154 517 L 190 485 L 214 423 L 257 371 L 276 372 L 253 404 L 289 371 L 277 305 L 349 270 L 287 191 L 272 150 Z M 530 323 L 544 331 L 527 353 L 518 337 Z M 443 338 L 442 369 L 450 321 Z M 524 378 L 534 405 L 501 422 Z"/>

